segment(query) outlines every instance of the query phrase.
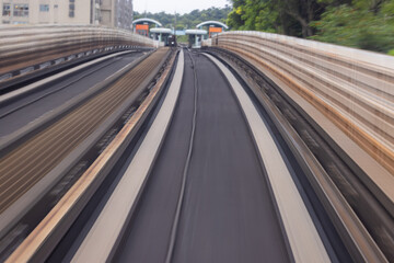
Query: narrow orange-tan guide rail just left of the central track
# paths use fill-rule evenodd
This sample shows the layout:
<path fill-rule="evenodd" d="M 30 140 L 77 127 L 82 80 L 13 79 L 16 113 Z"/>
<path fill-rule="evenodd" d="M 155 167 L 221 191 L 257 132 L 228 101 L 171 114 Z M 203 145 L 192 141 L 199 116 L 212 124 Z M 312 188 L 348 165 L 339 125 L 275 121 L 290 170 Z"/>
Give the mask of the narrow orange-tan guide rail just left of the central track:
<path fill-rule="evenodd" d="M 182 75 L 183 72 L 181 76 Z M 137 112 L 118 133 L 116 138 L 82 174 L 76 184 L 60 199 L 60 202 L 49 211 L 49 214 L 39 222 L 39 225 L 7 259 L 5 262 L 45 261 L 45 254 L 48 253 L 47 247 L 53 247 L 53 244 L 46 243 L 53 242 L 54 239 L 56 240 L 57 238 L 61 238 L 61 231 L 67 231 L 63 226 L 66 221 L 78 216 L 78 210 L 83 208 L 80 203 L 86 202 L 86 199 L 90 198 L 89 196 L 93 194 L 92 191 L 100 186 L 100 183 L 103 181 L 103 174 L 106 174 L 109 171 L 108 168 L 114 164 L 114 159 L 121 155 L 123 150 L 126 148 L 126 144 L 128 144 L 130 141 L 130 137 L 135 135 L 136 128 L 140 127 L 140 121 L 146 117 L 147 111 L 151 107 L 151 102 L 155 100 L 157 94 L 160 92 L 160 88 L 165 82 L 165 79 L 162 79 L 157 83 Z M 40 252 L 40 250 L 43 250 L 43 252 Z"/>

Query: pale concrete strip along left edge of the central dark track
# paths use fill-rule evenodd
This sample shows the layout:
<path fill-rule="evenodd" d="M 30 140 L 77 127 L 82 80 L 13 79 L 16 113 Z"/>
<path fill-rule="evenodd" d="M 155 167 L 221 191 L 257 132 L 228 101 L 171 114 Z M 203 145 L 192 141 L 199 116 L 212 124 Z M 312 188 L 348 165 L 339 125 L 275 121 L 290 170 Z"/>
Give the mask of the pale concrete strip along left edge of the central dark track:
<path fill-rule="evenodd" d="M 179 94 L 183 71 L 184 54 L 181 52 L 173 81 L 152 126 L 72 262 L 107 261 L 164 139 Z"/>

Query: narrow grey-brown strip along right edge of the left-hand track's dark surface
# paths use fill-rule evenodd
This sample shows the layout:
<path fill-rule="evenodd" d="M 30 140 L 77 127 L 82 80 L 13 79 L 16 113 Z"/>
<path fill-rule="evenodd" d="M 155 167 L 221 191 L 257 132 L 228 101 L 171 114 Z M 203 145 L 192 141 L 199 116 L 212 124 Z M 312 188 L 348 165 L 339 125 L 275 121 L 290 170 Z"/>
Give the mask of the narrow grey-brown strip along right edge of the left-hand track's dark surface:
<path fill-rule="evenodd" d="M 14 144 L 16 144 L 21 138 L 32 134 L 34 130 L 39 129 L 44 125 L 47 125 L 48 123 L 56 121 L 57 118 L 61 117 L 63 114 L 67 114 L 69 111 L 72 111 L 72 108 L 77 107 L 84 101 L 89 100 L 91 96 L 100 92 L 102 89 L 106 88 L 111 83 L 114 83 L 116 80 L 121 78 L 126 72 L 138 66 L 142 60 L 148 58 L 151 55 L 151 53 L 148 53 L 136 60 L 131 61 L 130 64 L 126 65 L 112 76 L 107 77 L 104 81 L 91 87 L 83 93 L 70 99 L 59 107 L 42 115 L 40 117 L 36 118 L 35 121 L 28 123 L 27 125 L 23 126 L 22 128 L 13 132 L 12 134 L 8 136 L 0 137 L 0 156 L 4 151 L 4 149 L 12 147 Z"/>

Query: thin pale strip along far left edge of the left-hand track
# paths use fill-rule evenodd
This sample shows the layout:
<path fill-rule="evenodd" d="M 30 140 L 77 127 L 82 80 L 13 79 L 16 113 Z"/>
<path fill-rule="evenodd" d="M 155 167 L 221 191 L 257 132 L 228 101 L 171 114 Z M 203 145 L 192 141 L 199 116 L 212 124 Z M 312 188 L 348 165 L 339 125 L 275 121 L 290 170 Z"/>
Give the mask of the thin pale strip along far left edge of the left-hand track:
<path fill-rule="evenodd" d="M 39 80 L 39 81 L 37 81 L 37 82 L 34 82 L 34 83 L 32 83 L 32 84 L 25 85 L 25 87 L 23 87 L 23 88 L 21 88 L 21 89 L 18 89 L 18 90 L 15 90 L 15 91 L 9 92 L 9 93 L 3 94 L 3 95 L 0 95 L 0 104 L 3 103 L 3 102 L 5 102 L 5 101 L 8 101 L 8 100 L 10 100 L 10 99 L 12 99 L 12 98 L 14 98 L 14 96 L 18 96 L 18 95 L 23 94 L 23 93 L 25 93 L 25 92 L 28 92 L 28 91 L 32 91 L 32 90 L 34 90 L 34 89 L 37 89 L 38 87 L 40 87 L 40 85 L 43 85 L 43 84 L 46 84 L 46 83 L 48 83 L 48 82 L 50 82 L 50 81 L 53 81 L 53 80 L 59 79 L 59 78 L 61 78 L 61 77 L 63 77 L 63 76 L 67 76 L 67 75 L 70 75 L 70 73 L 72 73 L 72 72 L 76 72 L 76 71 L 78 71 L 78 70 L 81 70 L 81 69 L 83 69 L 83 68 L 86 68 L 86 67 L 89 67 L 89 66 L 91 66 L 91 65 L 93 65 L 93 64 L 97 64 L 97 62 L 101 62 L 101 61 L 103 61 L 103 60 L 105 60 L 105 59 L 108 59 L 108 58 L 112 58 L 112 57 L 115 57 L 115 56 L 119 56 L 119 55 L 123 55 L 123 54 L 126 54 L 126 53 L 131 53 L 131 52 L 129 52 L 129 50 L 128 50 L 128 52 L 121 52 L 121 53 L 112 54 L 112 55 L 108 55 L 108 56 L 105 56 L 105 57 L 101 57 L 101 58 L 94 59 L 94 60 L 92 60 L 92 61 L 89 61 L 89 62 L 82 64 L 82 65 L 80 65 L 80 66 L 77 66 L 77 67 L 74 67 L 74 68 L 65 70 L 65 71 L 62 71 L 62 72 L 60 72 L 60 73 L 50 76 L 50 77 L 48 77 L 48 78 L 45 78 L 45 79 Z"/>

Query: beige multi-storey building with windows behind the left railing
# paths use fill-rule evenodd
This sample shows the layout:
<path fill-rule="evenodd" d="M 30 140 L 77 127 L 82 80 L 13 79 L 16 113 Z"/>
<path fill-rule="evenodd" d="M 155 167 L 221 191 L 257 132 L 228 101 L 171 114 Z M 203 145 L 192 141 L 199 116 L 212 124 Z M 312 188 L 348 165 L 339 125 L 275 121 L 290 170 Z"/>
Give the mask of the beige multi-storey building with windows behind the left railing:
<path fill-rule="evenodd" d="M 131 30 L 132 0 L 0 0 L 0 24 L 102 24 Z"/>

